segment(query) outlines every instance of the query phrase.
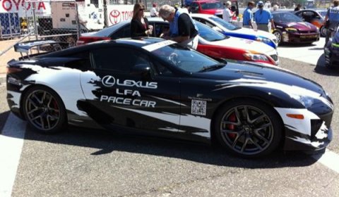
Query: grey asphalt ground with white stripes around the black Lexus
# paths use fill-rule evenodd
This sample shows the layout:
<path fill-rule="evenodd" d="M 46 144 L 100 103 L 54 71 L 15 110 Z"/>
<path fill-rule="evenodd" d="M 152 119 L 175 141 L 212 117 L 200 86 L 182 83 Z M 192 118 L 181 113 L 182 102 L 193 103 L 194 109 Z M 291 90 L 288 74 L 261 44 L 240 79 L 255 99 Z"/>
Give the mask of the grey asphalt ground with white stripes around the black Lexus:
<path fill-rule="evenodd" d="M 339 69 L 323 68 L 319 47 L 279 47 L 280 66 L 321 84 L 338 106 Z M 73 127 L 37 134 L 8 113 L 5 92 L 0 85 L 0 196 L 339 196 L 336 111 L 329 161 L 281 151 L 245 160 L 186 141 Z"/>

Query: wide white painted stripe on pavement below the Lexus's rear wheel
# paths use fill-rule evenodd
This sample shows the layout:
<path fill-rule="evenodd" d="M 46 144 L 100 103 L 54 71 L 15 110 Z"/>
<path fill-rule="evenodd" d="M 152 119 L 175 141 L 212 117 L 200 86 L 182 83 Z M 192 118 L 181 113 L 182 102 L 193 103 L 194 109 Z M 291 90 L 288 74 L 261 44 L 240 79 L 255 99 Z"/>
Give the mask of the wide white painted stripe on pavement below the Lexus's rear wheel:
<path fill-rule="evenodd" d="M 0 134 L 0 196 L 10 197 L 18 170 L 26 122 L 10 113 Z"/>

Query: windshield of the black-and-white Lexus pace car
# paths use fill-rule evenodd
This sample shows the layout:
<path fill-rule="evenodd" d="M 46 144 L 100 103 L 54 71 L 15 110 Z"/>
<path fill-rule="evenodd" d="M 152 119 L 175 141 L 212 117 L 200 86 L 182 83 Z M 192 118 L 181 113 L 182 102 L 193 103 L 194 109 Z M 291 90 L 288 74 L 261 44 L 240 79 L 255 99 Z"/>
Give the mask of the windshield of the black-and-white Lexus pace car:
<path fill-rule="evenodd" d="M 161 58 L 162 61 L 186 72 L 201 72 L 201 70 L 206 70 L 206 68 L 220 64 L 220 62 L 198 51 L 179 46 L 179 44 L 163 46 L 150 52 Z"/>

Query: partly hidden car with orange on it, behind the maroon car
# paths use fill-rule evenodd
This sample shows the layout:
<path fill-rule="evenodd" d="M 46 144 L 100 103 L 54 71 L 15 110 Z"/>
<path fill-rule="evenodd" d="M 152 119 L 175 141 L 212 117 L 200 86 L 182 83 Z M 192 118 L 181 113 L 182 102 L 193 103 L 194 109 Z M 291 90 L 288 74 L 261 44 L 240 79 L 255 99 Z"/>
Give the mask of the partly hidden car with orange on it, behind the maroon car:
<path fill-rule="evenodd" d="M 311 23 L 318 27 L 322 37 L 326 36 L 326 28 L 323 26 L 323 20 L 325 17 L 321 15 L 321 13 L 315 10 L 301 10 L 295 12 L 295 15 L 299 16 L 299 18 L 302 18 L 305 22 Z"/>

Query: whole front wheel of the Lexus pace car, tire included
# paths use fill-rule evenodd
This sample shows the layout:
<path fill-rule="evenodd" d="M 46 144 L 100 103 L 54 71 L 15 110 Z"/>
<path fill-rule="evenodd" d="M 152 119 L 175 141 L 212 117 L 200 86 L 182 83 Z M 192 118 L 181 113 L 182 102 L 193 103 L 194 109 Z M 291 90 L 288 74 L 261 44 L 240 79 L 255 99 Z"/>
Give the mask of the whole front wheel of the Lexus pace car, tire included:
<path fill-rule="evenodd" d="M 213 124 L 221 146 L 243 158 L 272 153 L 283 134 L 283 122 L 278 113 L 265 103 L 249 99 L 227 102 Z"/>

